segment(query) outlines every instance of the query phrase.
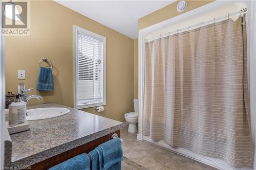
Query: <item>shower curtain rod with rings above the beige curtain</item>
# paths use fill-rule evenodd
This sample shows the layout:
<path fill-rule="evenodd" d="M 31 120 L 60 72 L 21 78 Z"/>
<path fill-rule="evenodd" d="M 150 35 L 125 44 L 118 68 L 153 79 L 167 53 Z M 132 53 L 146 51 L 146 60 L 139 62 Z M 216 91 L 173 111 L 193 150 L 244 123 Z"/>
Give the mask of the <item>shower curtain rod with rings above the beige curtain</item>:
<path fill-rule="evenodd" d="M 214 21 L 214 23 L 215 23 L 215 21 L 218 20 L 218 19 L 222 19 L 222 18 L 225 18 L 225 17 L 228 17 L 228 19 L 229 19 L 229 16 L 231 16 L 231 15 L 236 15 L 236 14 L 238 14 L 238 13 L 240 13 L 240 15 L 242 15 L 242 12 L 245 13 L 246 11 L 247 11 L 247 8 L 244 8 L 244 9 L 239 10 L 239 11 L 237 11 L 237 12 L 229 13 L 229 14 L 227 14 L 227 15 L 220 16 L 220 17 L 218 17 L 218 18 L 214 18 L 214 19 L 210 19 L 210 20 L 207 20 L 207 21 L 204 21 L 204 22 L 200 22 L 200 23 L 198 23 L 198 24 L 196 24 L 196 25 L 193 25 L 193 26 L 188 26 L 188 27 L 185 27 L 185 28 L 182 28 L 182 29 L 178 29 L 178 30 L 176 30 L 176 31 L 172 31 L 172 32 L 165 33 L 165 34 L 160 34 L 160 36 L 158 36 L 158 37 L 152 37 L 152 38 L 150 38 L 150 39 L 145 38 L 144 41 L 149 42 L 149 41 L 153 41 L 153 40 L 156 40 L 156 39 L 159 39 L 159 38 L 164 38 L 164 37 L 169 36 L 171 33 L 179 33 L 180 31 L 184 31 L 184 30 L 190 31 L 190 30 L 192 30 L 192 28 L 194 28 L 194 27 L 197 27 L 197 26 L 202 27 L 202 25 L 204 25 L 204 24 L 207 23 L 207 22 L 212 22 L 212 21 Z"/>

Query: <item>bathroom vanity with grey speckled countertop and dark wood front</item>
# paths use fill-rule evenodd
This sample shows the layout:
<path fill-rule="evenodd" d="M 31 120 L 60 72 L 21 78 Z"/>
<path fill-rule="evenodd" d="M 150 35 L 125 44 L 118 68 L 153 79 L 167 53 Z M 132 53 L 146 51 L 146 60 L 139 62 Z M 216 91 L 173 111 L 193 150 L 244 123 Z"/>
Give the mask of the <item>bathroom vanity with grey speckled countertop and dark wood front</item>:
<path fill-rule="evenodd" d="M 32 169 L 48 169 L 81 153 L 88 153 L 99 144 L 111 139 L 126 126 L 116 120 L 48 103 L 28 106 L 28 109 L 65 107 L 66 115 L 29 121 L 28 131 L 6 135 L 5 165 L 31 166 Z"/>

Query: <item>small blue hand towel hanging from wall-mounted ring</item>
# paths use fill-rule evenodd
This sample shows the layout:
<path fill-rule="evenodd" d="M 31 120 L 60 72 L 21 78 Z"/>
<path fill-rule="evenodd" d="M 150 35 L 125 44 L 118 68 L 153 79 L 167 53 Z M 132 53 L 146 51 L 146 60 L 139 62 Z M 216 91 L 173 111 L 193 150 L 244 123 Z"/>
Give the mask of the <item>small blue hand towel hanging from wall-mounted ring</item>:
<path fill-rule="evenodd" d="M 52 69 L 40 67 L 39 77 L 37 79 L 37 90 L 52 91 L 53 90 L 53 76 Z"/>

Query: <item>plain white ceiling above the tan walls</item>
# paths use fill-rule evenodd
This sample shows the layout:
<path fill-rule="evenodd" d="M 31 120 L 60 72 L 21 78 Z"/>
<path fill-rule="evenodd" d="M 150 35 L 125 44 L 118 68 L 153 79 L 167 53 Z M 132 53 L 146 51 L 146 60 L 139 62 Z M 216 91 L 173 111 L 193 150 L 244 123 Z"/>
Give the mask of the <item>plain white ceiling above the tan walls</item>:
<path fill-rule="evenodd" d="M 57 3 L 130 38 L 138 37 L 138 19 L 174 1 L 63 1 Z"/>

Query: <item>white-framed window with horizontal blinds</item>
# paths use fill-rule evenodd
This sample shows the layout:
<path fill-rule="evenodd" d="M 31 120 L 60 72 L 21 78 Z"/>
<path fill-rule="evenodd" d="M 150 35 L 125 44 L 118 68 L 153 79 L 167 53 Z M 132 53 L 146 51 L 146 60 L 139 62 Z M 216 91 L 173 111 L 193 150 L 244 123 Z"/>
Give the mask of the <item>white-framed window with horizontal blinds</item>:
<path fill-rule="evenodd" d="M 105 105 L 105 37 L 74 26 L 74 106 Z"/>

